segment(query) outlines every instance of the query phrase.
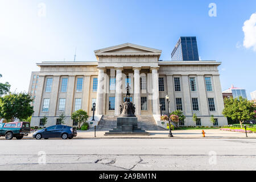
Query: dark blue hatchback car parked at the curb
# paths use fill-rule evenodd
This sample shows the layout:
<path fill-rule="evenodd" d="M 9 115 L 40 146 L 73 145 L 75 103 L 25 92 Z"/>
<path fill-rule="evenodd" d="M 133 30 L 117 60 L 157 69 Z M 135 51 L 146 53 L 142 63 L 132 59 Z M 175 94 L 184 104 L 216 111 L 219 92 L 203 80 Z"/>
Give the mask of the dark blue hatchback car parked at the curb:
<path fill-rule="evenodd" d="M 76 135 L 76 129 L 73 129 L 73 127 L 65 125 L 53 125 L 45 129 L 35 131 L 35 133 L 33 134 L 33 138 L 36 138 L 38 140 L 42 138 L 72 139 L 73 137 L 76 137 Z"/>

